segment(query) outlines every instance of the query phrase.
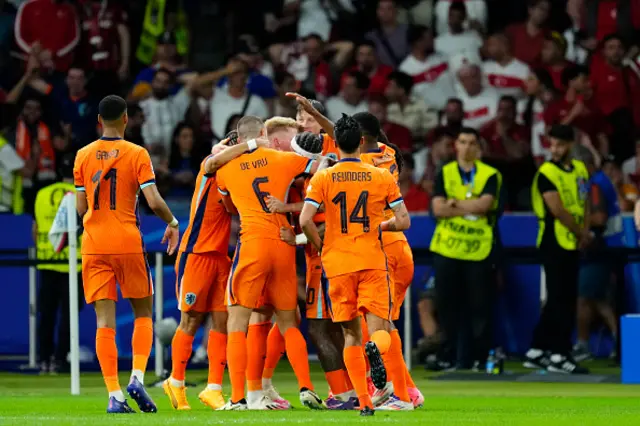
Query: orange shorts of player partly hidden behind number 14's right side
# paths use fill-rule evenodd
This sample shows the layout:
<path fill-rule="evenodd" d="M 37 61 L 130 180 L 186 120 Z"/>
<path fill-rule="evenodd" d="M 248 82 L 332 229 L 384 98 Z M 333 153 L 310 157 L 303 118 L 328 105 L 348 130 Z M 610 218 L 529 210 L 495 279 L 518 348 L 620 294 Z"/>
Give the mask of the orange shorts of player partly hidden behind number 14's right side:
<path fill-rule="evenodd" d="M 413 253 L 409 243 L 402 240 L 394 241 L 385 246 L 384 252 L 387 255 L 387 267 L 393 287 L 391 319 L 396 321 L 400 318 L 400 308 L 404 302 L 404 296 L 413 281 Z"/>

